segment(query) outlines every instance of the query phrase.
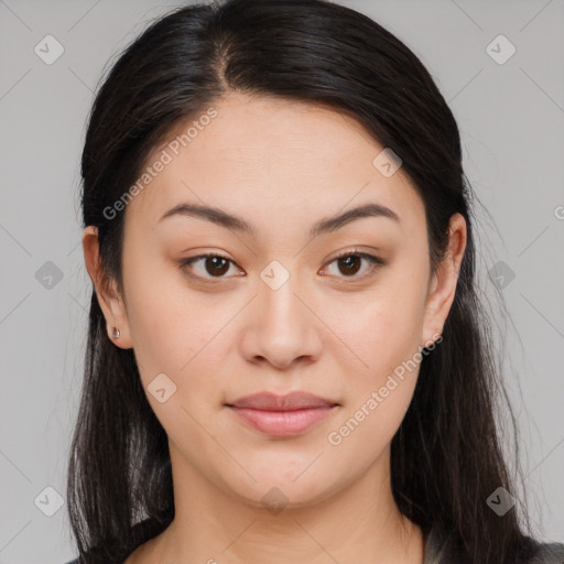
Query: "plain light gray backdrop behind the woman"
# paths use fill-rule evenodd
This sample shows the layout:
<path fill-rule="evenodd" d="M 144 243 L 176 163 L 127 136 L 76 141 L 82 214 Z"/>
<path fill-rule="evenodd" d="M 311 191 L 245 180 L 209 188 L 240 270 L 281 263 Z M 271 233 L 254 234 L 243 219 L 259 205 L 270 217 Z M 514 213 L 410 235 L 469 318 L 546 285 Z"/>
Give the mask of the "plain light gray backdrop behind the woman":
<path fill-rule="evenodd" d="M 110 57 L 178 3 L 0 0 L 3 563 L 74 555 L 65 507 L 52 517 L 39 507 L 43 499 L 54 509 L 46 487 L 65 497 L 82 380 L 90 292 L 79 245 L 85 121 Z M 564 2 L 343 3 L 415 52 L 458 121 L 466 174 L 491 216 L 479 213 L 480 276 L 488 295 L 500 288 L 511 315 L 499 324 L 533 521 L 541 538 L 564 541 Z M 34 52 L 47 34 L 64 47 L 52 65 Z M 488 48 L 499 34 L 517 50 L 503 64 L 491 55 L 506 56 L 509 45 Z M 44 278 L 55 270 L 61 280 Z"/>

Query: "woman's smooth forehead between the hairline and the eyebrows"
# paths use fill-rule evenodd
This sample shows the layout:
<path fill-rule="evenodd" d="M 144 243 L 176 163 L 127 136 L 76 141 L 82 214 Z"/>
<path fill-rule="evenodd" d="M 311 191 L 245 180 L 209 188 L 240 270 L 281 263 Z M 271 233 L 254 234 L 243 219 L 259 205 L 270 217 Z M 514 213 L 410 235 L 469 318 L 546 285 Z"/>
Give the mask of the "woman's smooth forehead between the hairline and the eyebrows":
<path fill-rule="evenodd" d="M 128 215 L 154 226 L 182 202 L 257 219 L 265 214 L 272 219 L 273 209 L 286 220 L 322 217 L 368 200 L 395 209 L 408 221 L 422 213 L 402 169 L 384 176 L 375 166 L 384 147 L 347 115 L 241 94 L 209 108 L 216 112 L 213 119 L 193 117 L 152 152 L 145 165 L 160 159 L 166 164 L 153 172 Z M 209 115 L 209 108 L 200 116 Z"/>

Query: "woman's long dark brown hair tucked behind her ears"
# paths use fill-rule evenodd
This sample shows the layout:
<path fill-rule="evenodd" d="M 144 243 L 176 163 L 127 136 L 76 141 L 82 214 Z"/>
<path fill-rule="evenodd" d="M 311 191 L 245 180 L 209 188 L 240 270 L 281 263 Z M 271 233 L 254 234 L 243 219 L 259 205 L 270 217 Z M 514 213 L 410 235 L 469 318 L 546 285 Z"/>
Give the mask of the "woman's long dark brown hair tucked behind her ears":
<path fill-rule="evenodd" d="M 458 563 L 525 561 L 534 543 L 517 507 L 499 517 L 487 505 L 499 487 L 517 492 L 495 421 L 501 376 L 476 286 L 473 195 L 457 123 L 420 59 L 370 18 L 323 0 L 227 0 L 177 9 L 123 51 L 97 93 L 82 158 L 83 223 L 98 228 L 108 283 L 123 293 L 124 214 L 109 218 L 105 209 L 169 132 L 228 91 L 326 105 L 392 149 L 424 202 L 433 268 L 445 256 L 452 215 L 466 219 L 443 340 L 424 356 L 392 440 L 393 496 L 425 533 L 434 528 L 449 539 Z M 166 433 L 134 351 L 108 338 L 94 289 L 68 509 L 89 563 L 122 561 L 174 518 Z"/>

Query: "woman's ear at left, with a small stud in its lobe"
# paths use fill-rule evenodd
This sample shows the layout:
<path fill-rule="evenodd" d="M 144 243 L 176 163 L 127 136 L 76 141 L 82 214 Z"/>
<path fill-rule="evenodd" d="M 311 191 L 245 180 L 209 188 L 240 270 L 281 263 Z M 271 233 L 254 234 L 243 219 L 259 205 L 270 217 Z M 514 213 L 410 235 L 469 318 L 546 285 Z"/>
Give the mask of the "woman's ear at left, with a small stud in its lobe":
<path fill-rule="evenodd" d="M 86 269 L 106 318 L 106 330 L 109 339 L 120 348 L 132 348 L 126 304 L 117 291 L 115 280 L 108 280 L 100 264 L 97 227 L 90 225 L 84 230 L 83 251 Z M 113 337 L 113 327 L 119 329 L 119 338 Z"/>

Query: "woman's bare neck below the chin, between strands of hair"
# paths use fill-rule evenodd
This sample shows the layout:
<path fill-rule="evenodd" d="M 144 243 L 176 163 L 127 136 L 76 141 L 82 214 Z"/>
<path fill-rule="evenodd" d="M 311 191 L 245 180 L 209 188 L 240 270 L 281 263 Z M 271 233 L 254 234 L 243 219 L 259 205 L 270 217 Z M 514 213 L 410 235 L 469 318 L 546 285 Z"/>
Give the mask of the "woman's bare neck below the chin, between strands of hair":
<path fill-rule="evenodd" d="M 421 529 L 393 500 L 389 451 L 340 491 L 276 512 L 221 490 L 170 446 L 175 517 L 147 543 L 140 562 L 423 562 Z"/>

